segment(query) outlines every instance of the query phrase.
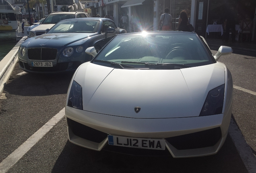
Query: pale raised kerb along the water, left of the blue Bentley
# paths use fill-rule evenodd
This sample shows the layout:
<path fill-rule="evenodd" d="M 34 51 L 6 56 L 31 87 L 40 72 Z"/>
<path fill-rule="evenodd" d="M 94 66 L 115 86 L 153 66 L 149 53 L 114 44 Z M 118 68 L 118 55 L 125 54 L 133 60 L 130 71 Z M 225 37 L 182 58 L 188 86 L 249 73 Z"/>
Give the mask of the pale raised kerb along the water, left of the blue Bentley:
<path fill-rule="evenodd" d="M 0 94 L 2 94 L 4 86 L 12 74 L 15 64 L 18 62 L 19 46 L 26 39 L 27 36 L 24 36 L 0 61 Z"/>

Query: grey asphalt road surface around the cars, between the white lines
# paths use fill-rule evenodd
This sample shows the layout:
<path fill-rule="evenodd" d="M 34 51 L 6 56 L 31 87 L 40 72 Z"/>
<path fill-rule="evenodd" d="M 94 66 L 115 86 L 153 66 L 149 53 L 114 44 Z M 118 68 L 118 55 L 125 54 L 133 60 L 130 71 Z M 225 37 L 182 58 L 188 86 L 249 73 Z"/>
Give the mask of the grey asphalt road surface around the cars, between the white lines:
<path fill-rule="evenodd" d="M 215 53 L 216 51 L 213 51 Z M 256 55 L 223 56 L 236 86 L 256 92 Z M 247 52 L 248 53 L 248 52 Z M 243 53 L 245 54 L 245 53 Z M 72 74 L 22 74 L 18 64 L 0 99 L 0 162 L 13 153 L 31 135 L 65 107 L 66 92 Z M 233 117 L 246 142 L 256 151 L 256 96 L 234 89 Z M 247 173 L 230 135 L 216 155 L 186 159 L 138 157 L 92 151 L 68 141 L 62 118 L 8 173 L 80 173 L 80 172 L 186 172 Z"/>

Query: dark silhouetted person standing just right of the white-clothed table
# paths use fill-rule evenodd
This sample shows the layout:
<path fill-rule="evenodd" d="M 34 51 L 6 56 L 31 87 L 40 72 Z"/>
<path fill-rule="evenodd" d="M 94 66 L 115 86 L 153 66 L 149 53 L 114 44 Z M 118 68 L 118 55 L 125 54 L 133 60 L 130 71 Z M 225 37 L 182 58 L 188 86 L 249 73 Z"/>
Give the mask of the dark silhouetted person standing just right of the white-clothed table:
<path fill-rule="evenodd" d="M 235 42 L 235 21 L 237 19 L 237 14 L 233 5 L 231 5 L 229 10 L 225 12 L 223 19 L 226 20 L 225 41 L 229 40 L 229 31 L 231 31 L 231 41 Z"/>

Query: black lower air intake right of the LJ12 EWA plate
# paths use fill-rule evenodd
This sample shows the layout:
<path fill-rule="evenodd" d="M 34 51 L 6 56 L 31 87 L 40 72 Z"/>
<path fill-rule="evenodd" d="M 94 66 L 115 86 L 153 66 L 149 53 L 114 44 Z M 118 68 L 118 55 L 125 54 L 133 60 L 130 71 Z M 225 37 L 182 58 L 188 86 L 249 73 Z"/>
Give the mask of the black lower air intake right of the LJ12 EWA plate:
<path fill-rule="evenodd" d="M 221 139 L 220 127 L 187 135 L 165 138 L 166 141 L 178 150 L 212 147 L 219 141 L 219 139 Z"/>

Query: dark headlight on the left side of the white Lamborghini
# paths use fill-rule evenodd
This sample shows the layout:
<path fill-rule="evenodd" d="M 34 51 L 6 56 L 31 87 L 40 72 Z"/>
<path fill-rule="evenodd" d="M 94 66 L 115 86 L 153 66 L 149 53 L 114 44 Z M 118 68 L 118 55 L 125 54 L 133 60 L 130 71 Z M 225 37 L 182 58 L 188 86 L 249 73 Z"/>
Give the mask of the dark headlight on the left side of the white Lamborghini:
<path fill-rule="evenodd" d="M 73 81 L 70 89 L 68 106 L 83 110 L 82 87 L 76 81 Z"/>

